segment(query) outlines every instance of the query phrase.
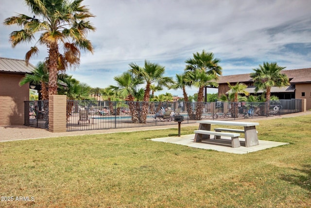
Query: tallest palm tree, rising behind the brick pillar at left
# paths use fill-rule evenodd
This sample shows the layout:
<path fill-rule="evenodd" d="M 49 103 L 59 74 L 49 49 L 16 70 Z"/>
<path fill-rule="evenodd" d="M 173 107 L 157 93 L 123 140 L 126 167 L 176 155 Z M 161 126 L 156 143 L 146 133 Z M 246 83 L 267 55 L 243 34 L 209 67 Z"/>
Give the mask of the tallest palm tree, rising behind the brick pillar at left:
<path fill-rule="evenodd" d="M 46 46 L 49 53 L 49 95 L 57 94 L 58 70 L 79 64 L 79 49 L 93 53 L 92 44 L 86 39 L 86 35 L 89 31 L 95 31 L 95 27 L 88 21 L 88 18 L 94 16 L 82 5 L 82 1 L 25 0 L 33 17 L 18 14 L 3 22 L 5 25 L 21 27 L 21 30 L 10 34 L 13 47 L 21 42 L 31 42 L 35 39 L 35 34 L 41 33 L 37 43 Z M 61 45 L 64 56 L 59 52 Z M 26 62 L 37 53 L 38 47 L 31 47 L 26 53 Z"/>

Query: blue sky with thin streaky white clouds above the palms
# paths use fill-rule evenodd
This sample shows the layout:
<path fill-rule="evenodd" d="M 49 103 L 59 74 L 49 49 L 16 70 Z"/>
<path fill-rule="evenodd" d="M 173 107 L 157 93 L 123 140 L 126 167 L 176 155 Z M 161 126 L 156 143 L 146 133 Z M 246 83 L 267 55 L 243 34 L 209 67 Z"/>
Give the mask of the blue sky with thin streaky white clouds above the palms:
<path fill-rule="evenodd" d="M 203 49 L 221 59 L 223 75 L 251 73 L 263 61 L 286 69 L 311 67 L 311 0 L 85 0 L 84 5 L 96 16 L 90 21 L 97 30 L 88 35 L 95 53 L 82 53 L 80 67 L 68 74 L 91 87 L 115 84 L 113 77 L 129 63 L 145 59 L 175 77 L 185 60 Z M 0 8 L 1 22 L 16 13 L 31 16 L 23 0 L 2 0 Z M 12 48 L 8 37 L 17 29 L 0 25 L 0 57 L 24 59 L 35 44 Z M 44 57 L 47 50 L 40 48 L 31 63 Z"/>

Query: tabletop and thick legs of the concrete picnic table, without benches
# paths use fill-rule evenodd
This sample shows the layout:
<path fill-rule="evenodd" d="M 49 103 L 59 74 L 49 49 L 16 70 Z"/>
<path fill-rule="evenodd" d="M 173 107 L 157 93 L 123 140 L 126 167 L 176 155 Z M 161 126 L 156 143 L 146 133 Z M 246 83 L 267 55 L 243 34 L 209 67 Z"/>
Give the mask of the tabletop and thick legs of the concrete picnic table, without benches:
<path fill-rule="evenodd" d="M 259 145 L 258 135 L 256 131 L 256 126 L 259 123 L 254 122 L 239 122 L 239 121 L 215 121 L 215 120 L 202 120 L 197 121 L 199 123 L 199 130 L 210 131 L 211 124 L 215 125 L 227 125 L 227 126 L 242 126 L 244 127 L 245 134 L 245 147 L 252 147 Z M 194 142 L 200 142 L 202 137 L 197 136 L 194 137 Z M 209 136 L 208 136 L 209 138 Z"/>

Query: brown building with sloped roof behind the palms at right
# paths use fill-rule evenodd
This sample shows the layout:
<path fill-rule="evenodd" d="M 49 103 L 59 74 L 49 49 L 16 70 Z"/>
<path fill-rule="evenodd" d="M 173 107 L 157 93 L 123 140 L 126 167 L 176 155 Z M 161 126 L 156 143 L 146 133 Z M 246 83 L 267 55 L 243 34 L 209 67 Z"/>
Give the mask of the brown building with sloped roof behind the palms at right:
<path fill-rule="evenodd" d="M 271 95 L 276 95 L 280 99 L 306 99 L 307 109 L 311 109 L 311 68 L 282 70 L 281 73 L 286 74 L 290 81 L 290 86 L 273 87 Z M 218 80 L 218 96 L 227 94 L 230 88 L 227 82 L 235 85 L 237 82 L 244 83 L 248 87 L 246 91 L 255 94 L 254 82 L 250 74 L 220 76 Z M 258 92 L 259 94 L 262 91 Z"/>

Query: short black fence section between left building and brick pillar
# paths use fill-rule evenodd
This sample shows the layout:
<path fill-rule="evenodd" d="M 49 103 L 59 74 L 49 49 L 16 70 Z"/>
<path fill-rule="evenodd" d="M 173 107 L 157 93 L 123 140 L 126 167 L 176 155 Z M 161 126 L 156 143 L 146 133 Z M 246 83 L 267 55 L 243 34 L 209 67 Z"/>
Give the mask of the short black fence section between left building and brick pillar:
<path fill-rule="evenodd" d="M 25 101 L 24 125 L 42 129 L 49 129 L 49 101 Z"/>

